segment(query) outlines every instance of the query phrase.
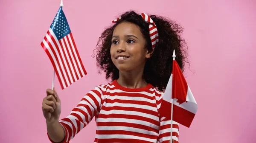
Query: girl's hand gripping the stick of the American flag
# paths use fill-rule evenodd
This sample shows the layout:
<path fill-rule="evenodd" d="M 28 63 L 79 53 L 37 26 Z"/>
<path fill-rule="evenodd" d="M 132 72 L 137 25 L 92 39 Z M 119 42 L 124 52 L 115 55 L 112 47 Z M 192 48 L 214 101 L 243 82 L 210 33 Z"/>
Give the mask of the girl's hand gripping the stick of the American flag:
<path fill-rule="evenodd" d="M 46 90 L 47 96 L 43 100 L 42 110 L 44 114 L 44 118 L 47 123 L 54 123 L 59 121 L 59 117 L 61 114 L 61 100 L 58 97 L 58 94 L 53 90 Z"/>

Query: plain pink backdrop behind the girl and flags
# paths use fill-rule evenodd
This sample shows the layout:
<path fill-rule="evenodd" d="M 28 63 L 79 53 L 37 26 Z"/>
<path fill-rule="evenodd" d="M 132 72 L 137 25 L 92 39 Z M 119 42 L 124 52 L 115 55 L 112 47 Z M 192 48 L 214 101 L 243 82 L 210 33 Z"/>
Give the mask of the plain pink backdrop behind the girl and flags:
<path fill-rule="evenodd" d="M 41 48 L 60 0 L 0 1 L 0 142 L 48 143 L 41 103 L 53 68 Z M 65 90 L 61 118 L 98 84 L 93 49 L 120 13 L 137 10 L 184 27 L 191 67 L 185 76 L 198 102 L 180 143 L 255 143 L 256 2 L 254 0 L 64 0 L 64 13 L 88 75 Z M 71 143 L 93 143 L 94 120 Z"/>

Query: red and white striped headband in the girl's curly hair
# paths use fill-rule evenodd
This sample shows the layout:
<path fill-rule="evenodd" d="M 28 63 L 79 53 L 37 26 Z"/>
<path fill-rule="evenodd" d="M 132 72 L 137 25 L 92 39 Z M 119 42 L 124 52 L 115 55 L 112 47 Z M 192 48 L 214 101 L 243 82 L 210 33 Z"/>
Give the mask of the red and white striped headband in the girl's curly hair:
<path fill-rule="evenodd" d="M 151 39 L 151 44 L 152 44 L 152 49 L 154 50 L 154 48 L 156 47 L 156 44 L 159 41 L 159 37 L 158 37 L 158 31 L 157 31 L 157 25 L 154 23 L 154 21 L 145 13 L 140 14 L 143 18 L 143 20 L 145 20 L 145 22 L 148 22 L 149 26 L 149 35 L 150 35 L 150 39 Z M 121 17 L 113 20 L 113 23 L 116 23 L 118 20 L 120 20 Z"/>

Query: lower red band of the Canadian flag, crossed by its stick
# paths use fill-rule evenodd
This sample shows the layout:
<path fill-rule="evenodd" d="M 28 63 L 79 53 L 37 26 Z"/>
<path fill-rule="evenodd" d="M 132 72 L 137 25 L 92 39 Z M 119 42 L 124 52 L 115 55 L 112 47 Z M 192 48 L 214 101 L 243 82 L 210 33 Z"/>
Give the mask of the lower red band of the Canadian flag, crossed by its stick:
<path fill-rule="evenodd" d="M 168 118 L 168 120 L 170 120 L 171 111 L 172 111 L 171 109 L 172 109 L 172 104 L 170 102 L 162 100 L 162 104 L 159 109 L 159 114 L 161 116 Z M 189 112 L 188 110 L 183 109 L 181 107 L 178 107 L 177 105 L 173 105 L 173 121 L 176 121 L 189 128 L 194 117 L 195 117 L 194 113 Z"/>

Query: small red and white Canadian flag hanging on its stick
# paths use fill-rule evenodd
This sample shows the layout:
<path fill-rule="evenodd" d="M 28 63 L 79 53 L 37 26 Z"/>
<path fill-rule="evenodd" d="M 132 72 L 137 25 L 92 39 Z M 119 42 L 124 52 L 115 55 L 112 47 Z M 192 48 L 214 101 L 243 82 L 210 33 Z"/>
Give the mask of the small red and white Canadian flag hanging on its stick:
<path fill-rule="evenodd" d="M 173 60 L 172 74 L 159 109 L 159 114 L 169 120 L 171 119 L 172 103 L 173 121 L 189 128 L 197 112 L 198 105 L 175 60 Z"/>

